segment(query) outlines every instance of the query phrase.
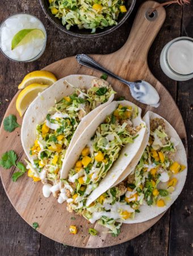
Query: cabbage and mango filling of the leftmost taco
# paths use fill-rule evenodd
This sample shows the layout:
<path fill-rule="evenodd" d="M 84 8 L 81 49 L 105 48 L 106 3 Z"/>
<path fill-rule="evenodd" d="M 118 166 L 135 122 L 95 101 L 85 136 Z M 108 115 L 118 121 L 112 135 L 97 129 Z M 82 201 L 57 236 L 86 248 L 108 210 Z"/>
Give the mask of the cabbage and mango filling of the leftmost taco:
<path fill-rule="evenodd" d="M 37 139 L 30 149 L 32 163 L 28 162 L 28 176 L 33 181 L 58 184 L 66 149 L 81 119 L 100 104 L 107 102 L 114 90 L 107 81 L 93 79 L 91 88 L 74 88 L 49 109 L 47 118 L 36 127 Z M 58 185 L 57 185 L 58 187 Z M 58 189 L 56 189 L 58 190 Z"/>

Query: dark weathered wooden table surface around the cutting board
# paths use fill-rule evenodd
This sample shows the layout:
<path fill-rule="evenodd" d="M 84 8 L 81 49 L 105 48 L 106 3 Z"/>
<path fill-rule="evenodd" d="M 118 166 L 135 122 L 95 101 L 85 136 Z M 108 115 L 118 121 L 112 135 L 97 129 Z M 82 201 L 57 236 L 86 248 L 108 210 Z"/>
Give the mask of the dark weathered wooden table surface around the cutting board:
<path fill-rule="evenodd" d="M 123 46 L 128 38 L 140 3 L 137 0 L 135 11 L 129 20 L 110 35 L 95 39 L 80 39 L 59 31 L 49 22 L 41 10 L 38 0 L 8 2 L 1 0 L 0 22 L 15 13 L 36 15 L 47 29 L 47 47 L 43 56 L 33 63 L 15 63 L 0 54 L 0 118 L 17 92 L 17 86 L 27 72 L 38 70 L 67 56 L 77 53 L 114 52 Z M 163 2 L 163 1 L 159 1 Z M 49 240 L 32 229 L 16 213 L 0 183 L 0 255 L 192 255 L 193 254 L 193 81 L 176 82 L 166 77 L 160 68 L 161 49 L 171 39 L 178 36 L 193 38 L 193 3 L 189 6 L 171 5 L 166 10 L 167 17 L 153 46 L 150 48 L 149 67 L 169 90 L 182 113 L 188 138 L 188 176 L 185 187 L 173 206 L 152 228 L 141 236 L 117 246 L 103 249 L 77 249 Z M 167 108 L 167 106 L 166 106 Z M 170 110 L 168 110 L 170 111 Z M 3 145 L 1 145 L 3 147 Z M 35 199 L 34 199 L 35 200 Z M 64 234 L 65 236 L 65 234 Z"/>

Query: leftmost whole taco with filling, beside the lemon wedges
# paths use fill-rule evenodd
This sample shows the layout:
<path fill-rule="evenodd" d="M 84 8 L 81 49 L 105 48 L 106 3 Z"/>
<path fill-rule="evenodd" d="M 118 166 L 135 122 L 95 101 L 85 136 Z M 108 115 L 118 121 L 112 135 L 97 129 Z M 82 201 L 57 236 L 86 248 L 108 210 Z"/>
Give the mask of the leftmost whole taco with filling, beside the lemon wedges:
<path fill-rule="evenodd" d="M 33 181 L 56 185 L 65 155 L 82 131 L 114 98 L 107 81 L 71 75 L 58 80 L 29 106 L 22 124 L 22 145 Z"/>

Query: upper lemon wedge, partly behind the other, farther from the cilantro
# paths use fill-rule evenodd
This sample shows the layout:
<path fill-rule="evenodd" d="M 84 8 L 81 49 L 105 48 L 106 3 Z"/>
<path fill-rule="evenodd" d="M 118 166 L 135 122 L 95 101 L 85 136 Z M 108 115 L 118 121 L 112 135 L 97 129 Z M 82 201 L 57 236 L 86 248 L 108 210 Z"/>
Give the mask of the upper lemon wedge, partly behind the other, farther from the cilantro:
<path fill-rule="evenodd" d="M 19 84 L 18 89 L 23 89 L 30 84 L 45 84 L 45 85 L 52 85 L 56 82 L 56 76 L 54 76 L 49 71 L 33 71 L 28 73 L 23 81 Z"/>

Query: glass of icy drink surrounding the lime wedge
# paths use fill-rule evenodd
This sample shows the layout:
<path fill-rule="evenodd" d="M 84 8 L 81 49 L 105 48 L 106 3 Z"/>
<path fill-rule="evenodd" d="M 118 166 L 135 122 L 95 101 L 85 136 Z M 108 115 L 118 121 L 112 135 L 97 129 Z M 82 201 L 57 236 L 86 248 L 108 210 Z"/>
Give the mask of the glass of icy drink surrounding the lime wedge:
<path fill-rule="evenodd" d="M 38 29 L 43 31 L 44 38 L 32 38 L 30 42 L 11 49 L 11 41 L 14 35 L 23 29 Z M 0 27 L 0 49 L 11 60 L 30 62 L 38 59 L 44 52 L 47 34 L 43 23 L 35 16 L 19 13 L 9 16 Z"/>

